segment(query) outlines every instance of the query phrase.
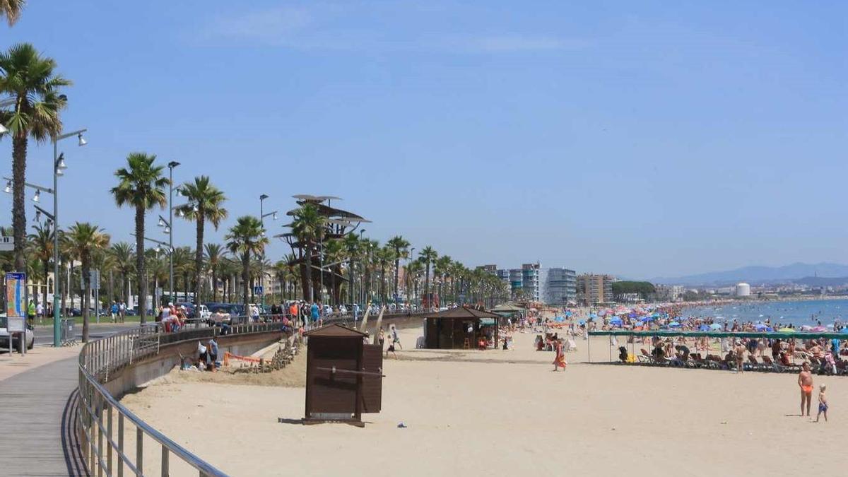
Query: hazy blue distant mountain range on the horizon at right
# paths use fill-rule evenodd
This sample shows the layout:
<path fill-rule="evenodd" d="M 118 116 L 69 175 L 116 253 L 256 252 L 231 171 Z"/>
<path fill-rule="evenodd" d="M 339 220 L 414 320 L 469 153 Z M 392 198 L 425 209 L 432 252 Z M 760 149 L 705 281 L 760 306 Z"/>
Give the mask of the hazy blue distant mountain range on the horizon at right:
<path fill-rule="evenodd" d="M 784 265 L 783 267 L 742 267 L 725 272 L 699 273 L 697 275 L 673 278 L 653 278 L 650 282 L 677 285 L 721 286 L 739 282 L 751 284 L 792 283 L 796 280 L 804 279 L 811 282 L 806 284 L 815 286 L 812 282 L 815 282 L 817 278 L 837 278 L 839 283 L 824 284 L 842 284 L 843 282 L 840 282 L 839 279 L 845 277 L 848 277 L 848 265 L 822 262 L 793 263 L 791 265 Z"/>

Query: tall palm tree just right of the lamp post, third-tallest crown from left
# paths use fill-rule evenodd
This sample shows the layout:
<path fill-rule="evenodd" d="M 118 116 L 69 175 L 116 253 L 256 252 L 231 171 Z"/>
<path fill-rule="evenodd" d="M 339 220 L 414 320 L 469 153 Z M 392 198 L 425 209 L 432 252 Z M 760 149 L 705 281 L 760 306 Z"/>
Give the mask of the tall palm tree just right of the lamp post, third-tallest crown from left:
<path fill-rule="evenodd" d="M 215 230 L 218 230 L 220 222 L 226 219 L 224 202 L 226 197 L 219 188 L 209 183 L 209 176 L 194 177 L 194 182 L 186 182 L 182 185 L 182 195 L 189 205 L 182 207 L 180 212 L 186 220 L 197 223 L 196 239 L 197 245 L 194 250 L 194 304 L 200 304 L 200 275 L 203 273 L 204 265 L 204 225 L 209 221 Z"/>

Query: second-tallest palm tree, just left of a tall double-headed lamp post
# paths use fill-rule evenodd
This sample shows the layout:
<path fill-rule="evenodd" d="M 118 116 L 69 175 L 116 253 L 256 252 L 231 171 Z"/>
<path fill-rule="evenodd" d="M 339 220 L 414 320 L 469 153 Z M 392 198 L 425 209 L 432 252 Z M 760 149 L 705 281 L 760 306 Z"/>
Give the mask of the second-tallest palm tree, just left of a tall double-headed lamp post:
<path fill-rule="evenodd" d="M 136 250 L 144 250 L 144 213 L 154 207 L 165 207 L 165 186 L 170 182 L 162 175 L 165 166 L 154 166 L 155 154 L 131 153 L 126 156 L 129 167 L 114 172 L 118 185 L 111 189 L 114 201 L 136 208 Z M 173 225 L 173 224 L 171 224 Z M 144 270 L 144 254 L 136 254 L 136 283 L 138 287 L 138 314 L 146 323 L 148 282 Z"/>

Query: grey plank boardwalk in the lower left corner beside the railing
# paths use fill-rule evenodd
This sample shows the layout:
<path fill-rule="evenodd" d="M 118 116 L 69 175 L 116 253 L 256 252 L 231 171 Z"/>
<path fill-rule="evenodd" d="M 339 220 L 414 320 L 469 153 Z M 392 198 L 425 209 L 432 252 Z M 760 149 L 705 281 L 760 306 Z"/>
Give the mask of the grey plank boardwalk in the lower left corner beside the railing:
<path fill-rule="evenodd" d="M 78 382 L 76 357 L 0 381 L 3 475 L 87 475 L 70 432 Z"/>

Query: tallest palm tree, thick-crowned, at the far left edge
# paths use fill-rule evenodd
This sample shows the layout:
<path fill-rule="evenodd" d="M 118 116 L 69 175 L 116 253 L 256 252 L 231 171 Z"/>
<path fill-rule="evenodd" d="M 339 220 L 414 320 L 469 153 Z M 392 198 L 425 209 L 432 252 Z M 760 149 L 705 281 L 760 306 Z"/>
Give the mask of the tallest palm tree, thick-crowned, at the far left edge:
<path fill-rule="evenodd" d="M 0 0 L 3 1 L 3 0 Z M 20 8 L 5 8 L 5 14 L 20 11 Z M 20 7 L 22 3 L 13 2 Z M 12 20 L 12 17 L 7 17 Z M 14 18 L 17 18 L 15 14 Z M 24 270 L 24 248 L 26 239 L 25 190 L 26 148 L 30 137 L 43 143 L 62 131 L 59 111 L 64 109 L 67 98 L 59 89 L 70 85 L 62 76 L 54 75 L 56 62 L 42 57 L 29 43 L 20 43 L 0 53 L 0 93 L 11 96 L 15 103 L 12 109 L 0 114 L 0 122 L 12 136 L 12 227 L 14 229 L 14 267 Z"/>

